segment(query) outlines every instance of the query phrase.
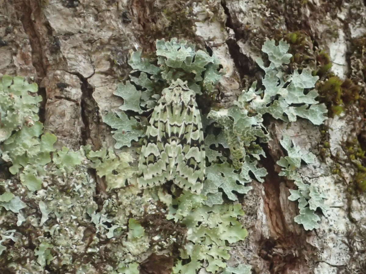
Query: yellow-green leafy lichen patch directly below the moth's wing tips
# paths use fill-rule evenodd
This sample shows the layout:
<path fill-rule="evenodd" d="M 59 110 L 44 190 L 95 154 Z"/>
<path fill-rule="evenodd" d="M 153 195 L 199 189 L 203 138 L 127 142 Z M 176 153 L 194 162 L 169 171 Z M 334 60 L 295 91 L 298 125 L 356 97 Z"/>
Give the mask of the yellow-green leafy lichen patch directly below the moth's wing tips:
<path fill-rule="evenodd" d="M 202 267 L 202 260 L 208 263 L 206 271 L 220 273 L 226 267 L 225 260 L 230 258 L 230 247 L 225 242 L 235 243 L 247 236 L 237 220 L 244 214 L 240 204 L 206 206 L 204 200 L 202 195 L 184 192 L 169 206 L 167 218 L 188 228 L 188 242 L 180 249 L 180 257 L 190 259 L 184 265 L 178 260 L 173 273 L 195 273 Z"/>

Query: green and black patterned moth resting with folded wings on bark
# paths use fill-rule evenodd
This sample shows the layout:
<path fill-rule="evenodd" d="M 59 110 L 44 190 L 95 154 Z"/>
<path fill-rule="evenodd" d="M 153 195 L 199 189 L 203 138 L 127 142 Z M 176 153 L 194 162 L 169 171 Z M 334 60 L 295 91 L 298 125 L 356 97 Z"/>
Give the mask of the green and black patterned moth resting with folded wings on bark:
<path fill-rule="evenodd" d="M 162 91 L 151 115 L 138 161 L 138 185 L 160 186 L 172 180 L 184 190 L 200 193 L 205 167 L 195 92 L 177 79 Z"/>

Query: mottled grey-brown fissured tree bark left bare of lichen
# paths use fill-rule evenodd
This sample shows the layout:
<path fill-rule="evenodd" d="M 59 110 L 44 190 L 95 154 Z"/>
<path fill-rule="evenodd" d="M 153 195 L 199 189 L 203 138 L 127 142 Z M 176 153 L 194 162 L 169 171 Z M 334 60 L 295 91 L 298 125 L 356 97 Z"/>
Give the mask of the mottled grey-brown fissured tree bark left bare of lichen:
<path fill-rule="evenodd" d="M 300 31 L 308 42 L 291 47 L 291 53 L 297 49 L 309 58 L 299 57 L 290 69 L 319 65 L 324 50 L 334 75 L 358 85 L 363 101 L 346 105 L 325 127 L 267 117 L 272 140 L 261 163 L 269 174 L 263 184 L 253 181 L 254 190 L 242 200 L 246 216 L 240 221 L 249 236 L 232 248 L 231 260 L 251 265 L 253 273 L 365 273 L 366 196 L 349 152 L 351 146 L 366 149 L 365 1 L 0 0 L 0 6 L 0 74 L 25 76 L 39 85 L 40 120 L 57 136 L 59 148 L 113 145 L 101 117 L 122 104 L 112 93 L 127 77 L 131 49 L 149 54 L 156 39 L 178 37 L 212 50 L 226 72 L 220 91 L 229 106 L 262 77 L 254 59 L 265 38 L 280 40 Z M 330 210 L 316 231 L 294 222 L 297 202 L 288 200 L 288 190 L 296 187 L 278 175 L 283 131 L 317 155 L 315 164 L 300 170 L 329 197 Z M 102 185 L 100 180 L 97 199 L 108 195 Z M 169 273 L 169 267 L 154 267 L 144 271 Z"/>

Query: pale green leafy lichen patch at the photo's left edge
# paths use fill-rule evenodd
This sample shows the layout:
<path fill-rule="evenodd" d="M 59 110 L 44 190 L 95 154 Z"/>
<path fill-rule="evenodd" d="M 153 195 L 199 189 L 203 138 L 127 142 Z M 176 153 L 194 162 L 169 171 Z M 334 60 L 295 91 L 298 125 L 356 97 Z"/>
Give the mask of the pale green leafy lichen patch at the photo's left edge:
<path fill-rule="evenodd" d="M 23 168 L 20 180 L 30 190 L 39 190 L 41 182 L 37 178 L 43 165 L 51 161 L 56 136 L 43 133 L 43 125 L 38 122 L 38 103 L 41 96 L 34 96 L 37 84 L 28 84 L 23 77 L 4 75 L 0 82 L 0 156 L 11 162 L 9 171 L 18 173 Z"/>

